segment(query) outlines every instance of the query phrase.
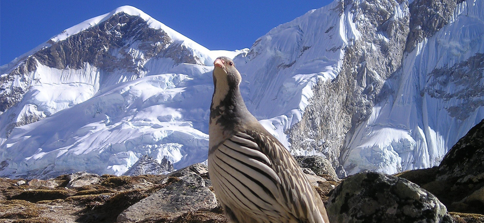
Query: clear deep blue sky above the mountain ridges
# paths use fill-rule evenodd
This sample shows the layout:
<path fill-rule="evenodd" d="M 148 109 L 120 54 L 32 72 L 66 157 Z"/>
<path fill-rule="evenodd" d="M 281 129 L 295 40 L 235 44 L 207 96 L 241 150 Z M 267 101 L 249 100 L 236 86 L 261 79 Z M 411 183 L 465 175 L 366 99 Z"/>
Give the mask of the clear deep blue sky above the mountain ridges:
<path fill-rule="evenodd" d="M 279 24 L 332 0 L 1 0 L 0 65 L 64 29 L 132 5 L 210 50 L 250 48 Z"/>

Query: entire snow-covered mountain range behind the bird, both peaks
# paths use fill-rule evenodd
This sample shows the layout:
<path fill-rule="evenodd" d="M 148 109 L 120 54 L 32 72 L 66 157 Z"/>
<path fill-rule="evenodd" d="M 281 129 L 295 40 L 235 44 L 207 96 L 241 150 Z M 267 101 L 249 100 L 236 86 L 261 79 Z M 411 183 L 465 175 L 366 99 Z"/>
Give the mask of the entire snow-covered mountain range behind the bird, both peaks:
<path fill-rule="evenodd" d="M 437 165 L 484 118 L 483 2 L 335 0 L 236 52 L 118 8 L 0 67 L 0 175 L 204 161 L 222 55 L 249 111 L 294 154 L 349 173 Z"/>

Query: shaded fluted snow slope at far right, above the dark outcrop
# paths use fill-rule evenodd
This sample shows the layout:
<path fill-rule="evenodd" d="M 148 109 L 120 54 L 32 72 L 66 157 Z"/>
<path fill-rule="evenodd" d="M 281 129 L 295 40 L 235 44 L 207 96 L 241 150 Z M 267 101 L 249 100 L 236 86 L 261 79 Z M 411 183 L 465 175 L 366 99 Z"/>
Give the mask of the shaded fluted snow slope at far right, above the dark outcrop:
<path fill-rule="evenodd" d="M 396 92 L 348 140 L 350 173 L 437 166 L 484 118 L 484 1 L 457 5 L 451 21 L 403 59 Z"/>

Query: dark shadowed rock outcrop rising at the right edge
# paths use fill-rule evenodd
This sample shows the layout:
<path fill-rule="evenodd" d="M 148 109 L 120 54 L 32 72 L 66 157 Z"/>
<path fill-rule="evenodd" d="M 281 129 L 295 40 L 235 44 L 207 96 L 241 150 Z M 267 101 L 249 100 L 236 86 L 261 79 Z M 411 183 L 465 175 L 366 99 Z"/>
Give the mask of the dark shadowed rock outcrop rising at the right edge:
<path fill-rule="evenodd" d="M 484 214 L 483 145 L 484 120 L 452 147 L 438 167 L 397 175 L 437 196 L 449 211 Z"/>

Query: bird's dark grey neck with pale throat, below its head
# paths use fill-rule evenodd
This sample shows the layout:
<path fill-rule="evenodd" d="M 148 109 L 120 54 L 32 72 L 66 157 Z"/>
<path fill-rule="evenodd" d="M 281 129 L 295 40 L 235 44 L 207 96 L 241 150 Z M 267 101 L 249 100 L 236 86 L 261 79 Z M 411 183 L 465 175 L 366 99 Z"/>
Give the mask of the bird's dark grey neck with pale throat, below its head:
<path fill-rule="evenodd" d="M 248 119 L 255 120 L 245 107 L 239 86 L 216 83 L 210 106 L 209 148 L 230 137 L 236 126 Z"/>

